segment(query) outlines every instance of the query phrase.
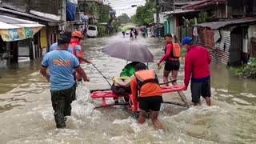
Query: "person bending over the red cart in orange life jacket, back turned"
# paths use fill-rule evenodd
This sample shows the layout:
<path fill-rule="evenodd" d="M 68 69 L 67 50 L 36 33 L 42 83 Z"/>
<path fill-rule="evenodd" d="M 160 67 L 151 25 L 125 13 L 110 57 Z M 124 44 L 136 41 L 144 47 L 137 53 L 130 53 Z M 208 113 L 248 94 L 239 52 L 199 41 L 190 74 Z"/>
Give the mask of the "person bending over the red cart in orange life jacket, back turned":
<path fill-rule="evenodd" d="M 158 114 L 162 103 L 161 87 L 154 70 L 147 70 L 144 63 L 135 66 L 135 76 L 130 81 L 132 91 L 133 112 L 138 111 L 138 123 L 146 122 L 146 114 L 150 111 L 150 118 L 154 126 L 162 129 L 162 123 L 158 120 Z"/>

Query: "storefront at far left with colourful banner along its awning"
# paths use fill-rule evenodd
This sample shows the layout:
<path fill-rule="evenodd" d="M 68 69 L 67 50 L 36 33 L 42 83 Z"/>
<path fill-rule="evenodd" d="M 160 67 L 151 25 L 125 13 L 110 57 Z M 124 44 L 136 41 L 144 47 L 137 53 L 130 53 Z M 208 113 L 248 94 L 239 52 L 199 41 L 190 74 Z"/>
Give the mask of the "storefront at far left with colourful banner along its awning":
<path fill-rule="evenodd" d="M 0 60 L 23 62 L 38 58 L 40 32 L 44 25 L 0 15 Z"/>

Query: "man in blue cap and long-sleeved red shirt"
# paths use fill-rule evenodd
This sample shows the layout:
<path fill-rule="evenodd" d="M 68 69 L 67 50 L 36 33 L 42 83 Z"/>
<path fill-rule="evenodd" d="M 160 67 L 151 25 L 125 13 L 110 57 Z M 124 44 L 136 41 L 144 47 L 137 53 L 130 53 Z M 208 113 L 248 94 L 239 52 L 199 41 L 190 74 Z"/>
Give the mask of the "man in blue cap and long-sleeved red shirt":
<path fill-rule="evenodd" d="M 183 38 L 182 46 L 187 51 L 184 83 L 187 88 L 191 78 L 192 102 L 194 106 L 199 105 L 202 95 L 207 105 L 210 106 L 210 54 L 205 47 L 194 46 L 193 39 L 190 37 Z"/>

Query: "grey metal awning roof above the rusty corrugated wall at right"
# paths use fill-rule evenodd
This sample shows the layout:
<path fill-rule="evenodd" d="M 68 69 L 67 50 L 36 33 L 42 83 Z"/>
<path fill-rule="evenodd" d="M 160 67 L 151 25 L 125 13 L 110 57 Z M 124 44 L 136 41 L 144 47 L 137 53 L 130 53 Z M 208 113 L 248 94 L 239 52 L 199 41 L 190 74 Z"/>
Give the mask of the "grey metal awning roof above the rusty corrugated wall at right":
<path fill-rule="evenodd" d="M 240 19 L 230 19 L 223 22 L 206 22 L 206 23 L 201 23 L 194 26 L 208 27 L 212 30 L 218 30 L 226 26 L 236 26 L 239 24 L 247 24 L 247 23 L 254 23 L 254 22 L 256 22 L 256 18 L 240 18 Z"/>

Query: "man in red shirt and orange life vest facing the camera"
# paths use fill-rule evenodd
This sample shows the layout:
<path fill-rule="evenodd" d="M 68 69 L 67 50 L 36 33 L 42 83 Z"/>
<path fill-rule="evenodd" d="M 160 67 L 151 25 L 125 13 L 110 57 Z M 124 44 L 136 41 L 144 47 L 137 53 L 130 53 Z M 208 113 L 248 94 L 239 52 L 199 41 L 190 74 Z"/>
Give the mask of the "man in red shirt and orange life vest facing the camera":
<path fill-rule="evenodd" d="M 177 79 L 178 70 L 179 70 L 179 57 L 174 56 L 174 45 L 172 43 L 172 36 L 171 34 L 165 35 L 166 40 L 166 50 L 165 55 L 161 58 L 158 62 L 158 66 L 163 62 L 166 61 L 165 69 L 163 70 L 163 82 L 168 82 L 168 76 L 171 72 L 171 79 Z"/>

